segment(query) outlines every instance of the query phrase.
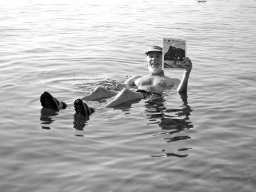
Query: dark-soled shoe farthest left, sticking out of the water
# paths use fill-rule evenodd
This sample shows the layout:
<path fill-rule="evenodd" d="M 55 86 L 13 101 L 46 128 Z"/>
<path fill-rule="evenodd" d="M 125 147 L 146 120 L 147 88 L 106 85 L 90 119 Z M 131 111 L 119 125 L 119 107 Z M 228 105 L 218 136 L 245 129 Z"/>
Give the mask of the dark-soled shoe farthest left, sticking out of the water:
<path fill-rule="evenodd" d="M 48 92 L 42 93 L 40 97 L 40 102 L 42 107 L 48 109 L 59 110 L 67 108 L 67 104 L 65 104 L 65 102 L 59 102 L 55 97 L 52 97 L 52 95 Z"/>

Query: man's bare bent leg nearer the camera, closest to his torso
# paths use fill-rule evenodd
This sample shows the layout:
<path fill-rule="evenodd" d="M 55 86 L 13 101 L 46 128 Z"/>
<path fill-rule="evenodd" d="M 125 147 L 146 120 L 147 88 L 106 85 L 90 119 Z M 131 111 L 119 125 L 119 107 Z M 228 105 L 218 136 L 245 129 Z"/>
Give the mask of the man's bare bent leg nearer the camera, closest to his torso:
<path fill-rule="evenodd" d="M 106 104 L 106 108 L 113 108 L 130 100 L 143 99 L 144 95 L 140 92 L 132 92 L 127 88 L 124 88 L 121 92 L 119 92 L 115 99 L 111 100 L 108 104 Z"/>

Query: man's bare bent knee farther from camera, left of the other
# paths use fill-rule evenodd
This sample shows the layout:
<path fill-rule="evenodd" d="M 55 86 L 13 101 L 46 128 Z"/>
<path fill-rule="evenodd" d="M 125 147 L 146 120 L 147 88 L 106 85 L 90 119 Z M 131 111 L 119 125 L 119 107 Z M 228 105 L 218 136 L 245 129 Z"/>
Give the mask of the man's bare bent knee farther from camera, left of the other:
<path fill-rule="evenodd" d="M 116 94 L 117 94 L 117 92 L 115 92 L 115 91 L 106 90 L 105 88 L 102 88 L 102 87 L 97 87 L 97 88 L 95 88 L 95 90 L 92 93 L 82 97 L 81 99 L 82 100 L 98 100 L 98 99 L 113 97 Z"/>

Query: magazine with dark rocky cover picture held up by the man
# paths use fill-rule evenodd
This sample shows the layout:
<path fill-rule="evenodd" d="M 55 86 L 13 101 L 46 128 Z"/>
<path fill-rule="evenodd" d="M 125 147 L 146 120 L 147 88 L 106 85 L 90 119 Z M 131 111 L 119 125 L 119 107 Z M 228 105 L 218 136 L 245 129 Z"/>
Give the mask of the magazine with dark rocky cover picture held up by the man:
<path fill-rule="evenodd" d="M 185 70 L 180 61 L 186 56 L 186 40 L 163 38 L 163 70 Z"/>

